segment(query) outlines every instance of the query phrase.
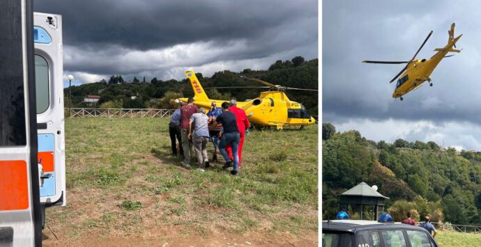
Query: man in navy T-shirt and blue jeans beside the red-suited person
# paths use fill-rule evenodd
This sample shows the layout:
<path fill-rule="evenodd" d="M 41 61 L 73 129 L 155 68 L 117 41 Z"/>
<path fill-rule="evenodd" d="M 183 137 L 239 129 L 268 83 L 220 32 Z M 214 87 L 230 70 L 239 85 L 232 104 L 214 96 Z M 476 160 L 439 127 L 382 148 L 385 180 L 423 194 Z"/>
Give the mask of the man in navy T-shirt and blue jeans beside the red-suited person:
<path fill-rule="evenodd" d="M 239 129 L 237 127 L 236 115 L 229 111 L 229 103 L 222 103 L 222 114 L 217 116 L 213 125 L 209 129 L 215 129 L 217 124 L 222 124 L 224 132 L 220 138 L 219 150 L 224 157 L 226 164 L 222 167 L 227 169 L 234 166 L 234 170 L 231 170 L 232 175 L 238 175 L 239 157 L 237 154 L 237 149 L 241 136 L 239 135 Z M 229 154 L 225 150 L 225 147 L 230 144 L 232 148 L 232 154 L 234 154 L 234 160 L 229 159 Z"/>

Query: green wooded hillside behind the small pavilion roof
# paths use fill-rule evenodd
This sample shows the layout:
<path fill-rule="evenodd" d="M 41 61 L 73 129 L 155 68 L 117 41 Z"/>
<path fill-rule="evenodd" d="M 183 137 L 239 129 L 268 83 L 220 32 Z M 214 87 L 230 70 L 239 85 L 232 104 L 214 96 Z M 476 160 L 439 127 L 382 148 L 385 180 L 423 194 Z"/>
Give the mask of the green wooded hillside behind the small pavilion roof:
<path fill-rule="evenodd" d="M 386 209 L 415 209 L 419 216 L 431 213 L 450 223 L 481 224 L 481 165 L 475 155 L 466 159 L 465 151 L 445 150 L 431 141 L 376 143 L 355 130 L 333 134 L 325 127 L 323 219 L 335 217 L 340 193 L 366 182 L 390 198 Z"/>

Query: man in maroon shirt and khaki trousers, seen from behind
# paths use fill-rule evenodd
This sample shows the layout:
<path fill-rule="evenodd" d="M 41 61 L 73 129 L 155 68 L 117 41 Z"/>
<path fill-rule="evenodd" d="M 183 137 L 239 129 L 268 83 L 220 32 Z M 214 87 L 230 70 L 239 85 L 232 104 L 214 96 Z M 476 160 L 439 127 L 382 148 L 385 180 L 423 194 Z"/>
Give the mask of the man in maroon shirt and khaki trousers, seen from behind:
<path fill-rule="evenodd" d="M 181 107 L 181 138 L 182 149 L 184 151 L 182 164 L 185 168 L 190 168 L 190 152 L 192 151 L 192 140 L 188 137 L 190 116 L 198 111 L 199 109 L 194 105 L 194 99 L 192 98 L 189 98 L 187 104 Z"/>

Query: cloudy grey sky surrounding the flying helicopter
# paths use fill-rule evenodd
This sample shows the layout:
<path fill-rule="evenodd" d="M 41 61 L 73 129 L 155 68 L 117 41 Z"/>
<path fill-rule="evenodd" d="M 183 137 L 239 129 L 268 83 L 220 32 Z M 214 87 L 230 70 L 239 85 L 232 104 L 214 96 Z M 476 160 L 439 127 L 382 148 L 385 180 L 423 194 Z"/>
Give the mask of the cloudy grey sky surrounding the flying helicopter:
<path fill-rule="evenodd" d="M 323 1 L 323 122 L 337 130 L 360 130 L 374 141 L 436 141 L 481 150 L 480 40 L 478 1 Z M 460 54 L 445 58 L 427 83 L 392 99 L 389 81 L 404 65 L 363 60 L 407 61 L 429 31 L 417 58 L 429 58 L 448 42 L 456 23 Z"/>

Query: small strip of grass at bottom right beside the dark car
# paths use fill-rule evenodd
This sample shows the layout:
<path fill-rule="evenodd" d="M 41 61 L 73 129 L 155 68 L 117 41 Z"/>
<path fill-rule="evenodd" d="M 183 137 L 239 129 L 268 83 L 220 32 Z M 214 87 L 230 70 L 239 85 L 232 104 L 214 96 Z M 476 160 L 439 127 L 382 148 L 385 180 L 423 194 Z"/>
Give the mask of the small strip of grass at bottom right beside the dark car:
<path fill-rule="evenodd" d="M 438 231 L 436 243 L 439 246 L 479 247 L 481 246 L 481 234 Z"/>

